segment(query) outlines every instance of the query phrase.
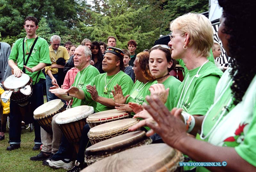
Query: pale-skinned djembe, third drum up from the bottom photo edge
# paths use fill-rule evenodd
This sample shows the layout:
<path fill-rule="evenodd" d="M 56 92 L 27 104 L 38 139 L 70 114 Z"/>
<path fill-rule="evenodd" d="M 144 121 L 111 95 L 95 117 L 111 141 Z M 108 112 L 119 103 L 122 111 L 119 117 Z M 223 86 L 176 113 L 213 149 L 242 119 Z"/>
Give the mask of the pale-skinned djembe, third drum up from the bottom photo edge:
<path fill-rule="evenodd" d="M 121 119 L 95 126 L 88 132 L 88 137 L 94 145 L 103 140 L 128 133 L 128 128 L 139 122 L 138 119 Z"/>

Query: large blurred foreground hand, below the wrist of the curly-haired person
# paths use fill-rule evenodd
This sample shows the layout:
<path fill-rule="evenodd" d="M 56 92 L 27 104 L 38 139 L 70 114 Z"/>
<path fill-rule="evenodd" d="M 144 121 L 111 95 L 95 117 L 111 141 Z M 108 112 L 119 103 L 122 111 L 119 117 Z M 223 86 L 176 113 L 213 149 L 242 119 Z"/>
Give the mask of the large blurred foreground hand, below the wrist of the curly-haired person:
<path fill-rule="evenodd" d="M 143 107 L 155 120 L 155 123 L 146 120 L 146 125 L 158 133 L 166 144 L 177 148 L 187 137 L 186 125 L 179 118 L 182 109 L 174 108 L 169 112 L 157 96 L 147 96 L 146 100 L 149 105 L 143 104 Z"/>

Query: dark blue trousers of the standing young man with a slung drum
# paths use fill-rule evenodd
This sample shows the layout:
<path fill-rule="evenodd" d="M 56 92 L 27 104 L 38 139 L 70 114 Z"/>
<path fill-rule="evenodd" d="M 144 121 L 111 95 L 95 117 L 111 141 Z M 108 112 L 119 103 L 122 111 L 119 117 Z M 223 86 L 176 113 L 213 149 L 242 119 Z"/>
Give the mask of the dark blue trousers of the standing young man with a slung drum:
<path fill-rule="evenodd" d="M 30 97 L 31 103 L 20 107 L 12 99 L 10 100 L 10 130 L 9 130 L 9 142 L 10 144 L 20 144 L 20 135 L 21 135 L 21 109 L 26 112 L 31 121 L 34 121 L 35 129 L 35 144 L 42 144 L 41 142 L 41 133 L 40 125 L 37 121 L 33 119 L 33 112 L 35 109 L 42 104 L 44 104 L 44 95 L 43 95 L 43 84 L 45 80 L 40 79 L 35 85 L 33 85 L 33 94 Z M 26 122 L 26 121 L 25 121 Z"/>

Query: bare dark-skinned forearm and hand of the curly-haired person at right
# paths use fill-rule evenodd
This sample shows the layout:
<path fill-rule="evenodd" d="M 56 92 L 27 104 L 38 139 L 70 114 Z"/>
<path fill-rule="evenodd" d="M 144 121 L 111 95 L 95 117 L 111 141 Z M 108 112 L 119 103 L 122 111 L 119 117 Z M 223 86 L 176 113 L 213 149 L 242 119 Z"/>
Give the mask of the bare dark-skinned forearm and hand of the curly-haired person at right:
<path fill-rule="evenodd" d="M 184 122 L 177 118 L 182 109 L 174 108 L 170 115 L 169 110 L 156 96 L 148 96 L 146 100 L 149 105 L 143 104 L 143 107 L 154 121 L 145 123 L 158 133 L 169 146 L 180 150 L 198 162 L 227 162 L 225 167 L 206 167 L 211 171 L 256 171 L 256 167 L 242 159 L 233 147 L 214 146 L 187 136 Z"/>

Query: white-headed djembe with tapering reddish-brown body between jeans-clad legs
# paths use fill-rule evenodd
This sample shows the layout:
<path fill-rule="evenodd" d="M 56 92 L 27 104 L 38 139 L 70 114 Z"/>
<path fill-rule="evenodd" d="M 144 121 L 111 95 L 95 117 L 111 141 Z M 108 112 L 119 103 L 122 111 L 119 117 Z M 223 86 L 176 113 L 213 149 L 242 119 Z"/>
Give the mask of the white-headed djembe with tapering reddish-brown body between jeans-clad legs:
<path fill-rule="evenodd" d="M 79 139 L 82 136 L 86 118 L 94 112 L 92 106 L 76 106 L 61 112 L 55 121 L 60 125 L 62 133 L 69 143 L 72 143 L 78 153 Z"/>

